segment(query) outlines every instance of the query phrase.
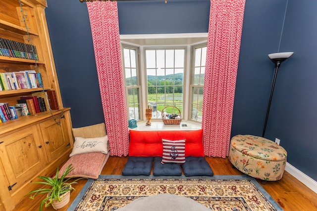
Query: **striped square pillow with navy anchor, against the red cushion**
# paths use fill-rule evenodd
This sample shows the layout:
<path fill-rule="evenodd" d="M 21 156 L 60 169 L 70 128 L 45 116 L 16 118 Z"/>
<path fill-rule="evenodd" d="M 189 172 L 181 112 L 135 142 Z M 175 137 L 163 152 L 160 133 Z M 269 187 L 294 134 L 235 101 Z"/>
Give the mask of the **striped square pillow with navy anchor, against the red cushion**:
<path fill-rule="evenodd" d="M 185 163 L 185 141 L 183 140 L 167 140 L 162 139 L 163 142 L 163 157 L 162 164 L 175 163 L 184 164 Z"/>

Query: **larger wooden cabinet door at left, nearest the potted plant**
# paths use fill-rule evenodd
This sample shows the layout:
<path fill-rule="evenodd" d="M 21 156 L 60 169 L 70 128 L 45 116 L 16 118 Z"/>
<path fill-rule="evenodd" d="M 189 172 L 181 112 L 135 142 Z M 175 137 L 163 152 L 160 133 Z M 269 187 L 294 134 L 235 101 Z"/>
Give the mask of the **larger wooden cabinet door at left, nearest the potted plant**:
<path fill-rule="evenodd" d="M 36 126 L 0 137 L 0 158 L 11 195 L 45 167 L 42 143 Z"/>

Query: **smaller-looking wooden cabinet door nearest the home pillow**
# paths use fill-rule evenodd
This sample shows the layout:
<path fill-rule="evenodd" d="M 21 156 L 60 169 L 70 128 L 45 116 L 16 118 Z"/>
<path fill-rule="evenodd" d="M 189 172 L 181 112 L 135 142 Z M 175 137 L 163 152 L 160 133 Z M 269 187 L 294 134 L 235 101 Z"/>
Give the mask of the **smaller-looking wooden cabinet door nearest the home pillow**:
<path fill-rule="evenodd" d="M 55 120 L 40 123 L 40 127 L 49 162 L 57 159 L 71 147 L 63 115 L 60 118 L 55 117 Z"/>

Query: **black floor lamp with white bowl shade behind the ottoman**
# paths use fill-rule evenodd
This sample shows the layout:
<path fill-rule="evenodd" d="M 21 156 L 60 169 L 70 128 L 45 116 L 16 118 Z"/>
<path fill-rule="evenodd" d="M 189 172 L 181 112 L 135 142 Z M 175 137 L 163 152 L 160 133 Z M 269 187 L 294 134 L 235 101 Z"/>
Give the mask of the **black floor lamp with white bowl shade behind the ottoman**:
<path fill-rule="evenodd" d="M 271 101 L 272 101 L 272 96 L 273 96 L 273 91 L 274 91 L 274 86 L 275 86 L 278 68 L 281 65 L 281 63 L 283 61 L 285 61 L 286 59 L 288 59 L 293 53 L 294 52 L 281 52 L 281 53 L 268 54 L 268 58 L 275 64 L 275 70 L 274 70 L 274 78 L 273 78 L 271 93 L 269 95 L 269 101 L 268 101 L 268 106 L 267 106 L 267 111 L 266 111 L 266 117 L 265 117 L 265 123 L 264 123 L 262 137 L 264 137 L 264 134 L 265 134 L 267 118 L 268 118 L 269 108 L 271 107 Z"/>

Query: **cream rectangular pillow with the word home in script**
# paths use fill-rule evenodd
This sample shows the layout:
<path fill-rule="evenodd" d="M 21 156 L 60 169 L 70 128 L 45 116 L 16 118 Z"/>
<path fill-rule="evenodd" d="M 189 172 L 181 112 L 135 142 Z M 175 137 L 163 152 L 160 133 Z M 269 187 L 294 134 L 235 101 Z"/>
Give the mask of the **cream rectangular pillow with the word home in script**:
<path fill-rule="evenodd" d="M 90 152 L 102 152 L 107 154 L 107 142 L 107 135 L 97 138 L 75 137 L 73 151 L 69 157 Z"/>

